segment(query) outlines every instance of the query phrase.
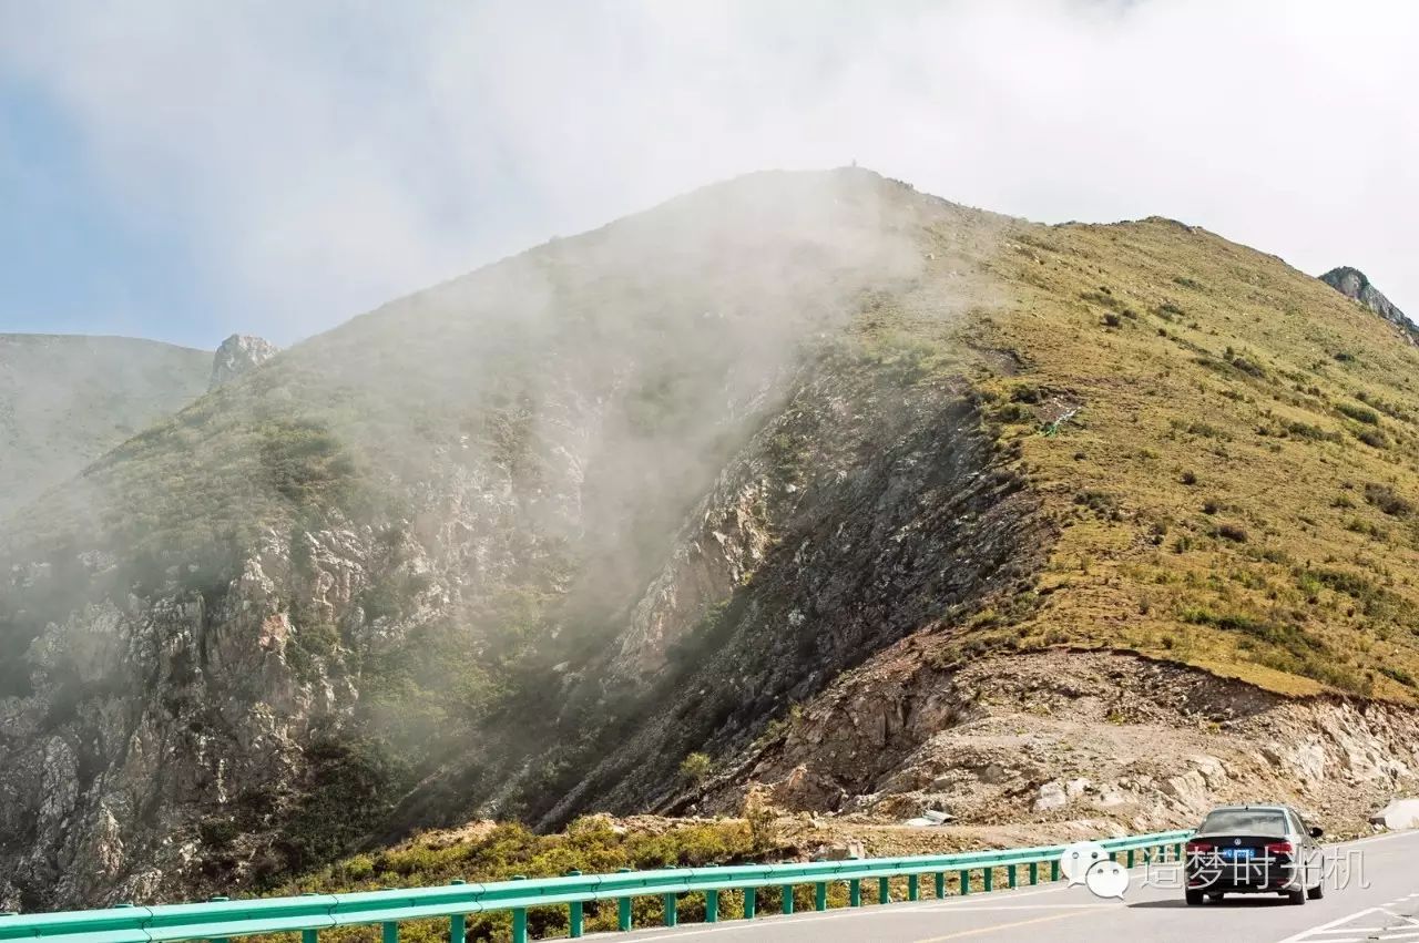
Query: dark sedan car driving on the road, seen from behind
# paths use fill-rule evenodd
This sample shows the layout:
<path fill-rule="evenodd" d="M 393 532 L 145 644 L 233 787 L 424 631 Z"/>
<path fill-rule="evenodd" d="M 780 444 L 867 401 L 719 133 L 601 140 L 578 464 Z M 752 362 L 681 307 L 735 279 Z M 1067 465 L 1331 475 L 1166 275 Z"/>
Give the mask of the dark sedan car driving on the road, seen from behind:
<path fill-rule="evenodd" d="M 1291 903 L 1325 892 L 1324 861 L 1311 827 L 1290 805 L 1222 805 L 1188 841 L 1188 903 L 1227 893 L 1280 893 Z"/>

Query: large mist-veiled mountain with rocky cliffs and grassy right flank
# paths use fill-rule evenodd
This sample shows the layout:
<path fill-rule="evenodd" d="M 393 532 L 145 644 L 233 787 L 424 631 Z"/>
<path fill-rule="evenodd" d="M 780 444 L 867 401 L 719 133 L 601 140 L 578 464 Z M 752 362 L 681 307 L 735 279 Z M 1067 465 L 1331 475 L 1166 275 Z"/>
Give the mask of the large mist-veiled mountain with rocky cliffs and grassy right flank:
<path fill-rule="evenodd" d="M 13 518 L 0 903 L 473 817 L 1362 821 L 1419 770 L 1416 367 L 1196 227 L 858 169 L 555 240 Z"/>

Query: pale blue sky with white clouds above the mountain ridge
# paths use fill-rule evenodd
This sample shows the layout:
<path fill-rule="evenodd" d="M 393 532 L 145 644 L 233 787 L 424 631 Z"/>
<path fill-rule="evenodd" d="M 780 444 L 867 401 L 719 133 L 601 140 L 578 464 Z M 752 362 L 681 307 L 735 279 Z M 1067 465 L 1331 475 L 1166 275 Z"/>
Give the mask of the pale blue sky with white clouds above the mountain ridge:
<path fill-rule="evenodd" d="M 1355 265 L 1419 315 L 1416 48 L 1408 0 L 0 0 L 0 332 L 288 345 L 853 160 Z"/>

